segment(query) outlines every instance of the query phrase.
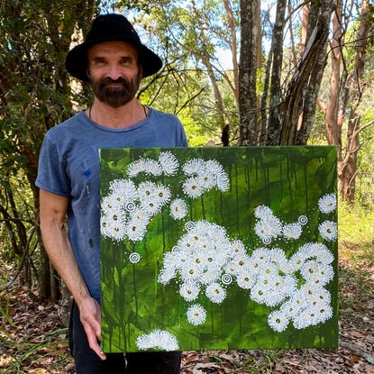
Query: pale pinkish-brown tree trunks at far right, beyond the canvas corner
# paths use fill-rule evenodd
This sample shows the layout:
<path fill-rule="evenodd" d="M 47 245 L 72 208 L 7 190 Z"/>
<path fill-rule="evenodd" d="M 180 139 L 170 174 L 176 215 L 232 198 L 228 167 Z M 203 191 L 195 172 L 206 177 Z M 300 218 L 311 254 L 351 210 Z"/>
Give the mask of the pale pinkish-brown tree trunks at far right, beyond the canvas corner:
<path fill-rule="evenodd" d="M 372 10 L 369 2 L 361 2 L 360 18 L 351 30 L 351 41 L 346 42 L 351 12 L 342 13 L 343 3 L 333 16 L 333 38 L 331 41 L 332 72 L 328 101 L 320 102 L 324 110 L 326 137 L 329 144 L 338 147 L 339 192 L 343 201 L 353 203 L 355 198 L 360 133 L 373 121 L 361 124 L 360 103 L 367 83 L 365 65 L 369 47 L 369 32 L 372 24 Z M 345 20 L 343 20 L 345 18 Z M 353 45 L 353 48 L 351 48 Z M 343 124 L 347 123 L 345 141 Z"/>

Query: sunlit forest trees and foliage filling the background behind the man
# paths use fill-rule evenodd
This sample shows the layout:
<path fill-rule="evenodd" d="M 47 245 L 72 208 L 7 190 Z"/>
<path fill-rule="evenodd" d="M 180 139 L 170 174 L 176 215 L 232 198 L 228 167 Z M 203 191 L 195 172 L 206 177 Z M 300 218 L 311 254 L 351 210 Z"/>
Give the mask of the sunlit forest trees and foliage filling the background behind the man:
<path fill-rule="evenodd" d="M 125 14 L 165 61 L 139 98 L 177 114 L 191 146 L 334 144 L 342 201 L 372 209 L 373 10 L 369 0 L 1 0 L 0 265 L 59 298 L 34 180 L 44 133 L 90 103 L 64 62 L 99 13 Z"/>

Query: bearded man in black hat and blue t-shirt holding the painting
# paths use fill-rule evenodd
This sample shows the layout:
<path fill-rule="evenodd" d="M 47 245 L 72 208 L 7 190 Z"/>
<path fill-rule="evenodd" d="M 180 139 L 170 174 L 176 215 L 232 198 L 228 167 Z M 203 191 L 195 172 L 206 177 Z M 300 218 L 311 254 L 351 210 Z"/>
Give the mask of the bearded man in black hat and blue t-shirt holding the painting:
<path fill-rule="evenodd" d="M 39 174 L 41 233 L 46 251 L 74 299 L 70 350 L 78 374 L 179 373 L 180 352 L 100 351 L 100 200 L 98 149 L 185 147 L 177 117 L 141 105 L 141 78 L 162 66 L 120 14 L 99 15 L 87 39 L 68 52 L 66 67 L 90 82 L 94 102 L 47 132 Z M 65 217 L 68 216 L 68 233 Z"/>

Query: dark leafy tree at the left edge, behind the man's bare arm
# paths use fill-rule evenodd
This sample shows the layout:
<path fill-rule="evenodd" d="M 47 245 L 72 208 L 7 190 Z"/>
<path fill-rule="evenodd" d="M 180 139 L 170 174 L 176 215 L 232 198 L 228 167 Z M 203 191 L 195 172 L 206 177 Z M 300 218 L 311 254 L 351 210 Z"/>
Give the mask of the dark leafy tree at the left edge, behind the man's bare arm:
<path fill-rule="evenodd" d="M 2 1 L 0 5 L 0 162 L 5 196 L 0 200 L 0 213 L 9 235 L 18 238 L 14 239 L 13 248 L 14 257 L 20 259 L 28 256 L 33 229 L 41 243 L 37 224 L 39 196 L 34 185 L 38 151 L 44 133 L 72 112 L 64 59 L 76 26 L 86 24 L 94 11 L 94 1 Z M 15 178 L 20 178 L 20 173 L 32 193 L 31 209 L 14 204 L 19 187 Z M 25 271 L 32 270 L 24 260 L 21 265 Z M 38 276 L 42 298 L 58 296 L 56 277 L 42 247 L 34 276 Z"/>

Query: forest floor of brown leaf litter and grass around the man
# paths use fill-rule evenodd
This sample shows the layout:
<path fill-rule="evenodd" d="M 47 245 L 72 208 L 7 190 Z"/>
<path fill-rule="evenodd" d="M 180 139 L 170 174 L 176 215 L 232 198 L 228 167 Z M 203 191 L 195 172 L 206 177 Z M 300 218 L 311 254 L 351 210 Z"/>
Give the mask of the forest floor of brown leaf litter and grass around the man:
<path fill-rule="evenodd" d="M 374 248 L 340 252 L 340 347 L 329 350 L 188 351 L 183 374 L 374 374 Z M 0 269 L 3 271 L 3 269 Z M 0 295 L 0 372 L 75 374 L 58 306 L 23 287 Z"/>

